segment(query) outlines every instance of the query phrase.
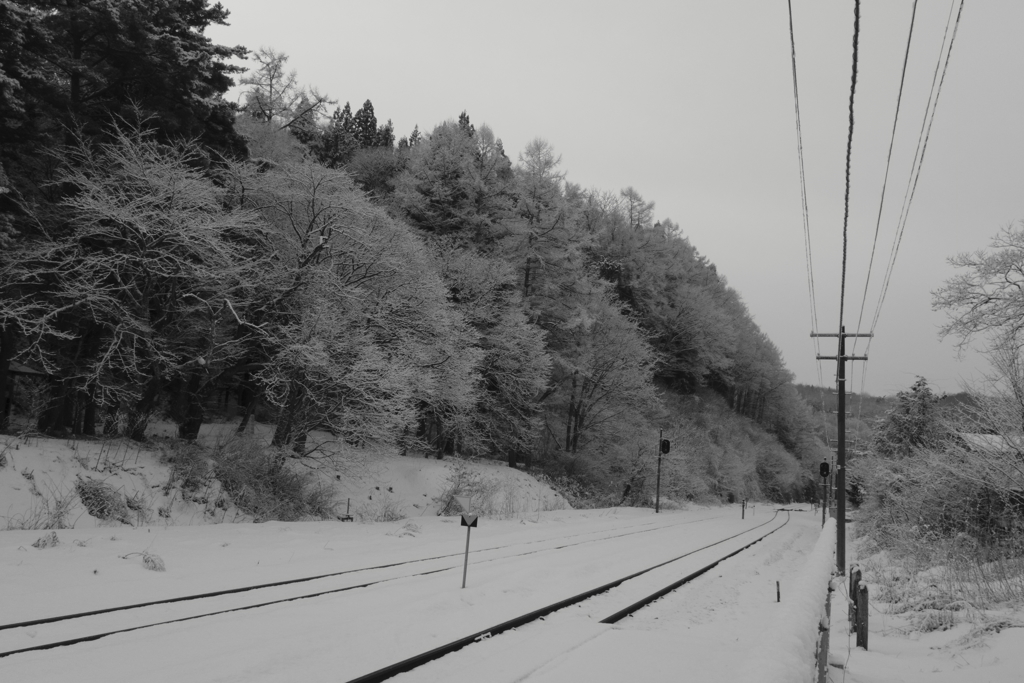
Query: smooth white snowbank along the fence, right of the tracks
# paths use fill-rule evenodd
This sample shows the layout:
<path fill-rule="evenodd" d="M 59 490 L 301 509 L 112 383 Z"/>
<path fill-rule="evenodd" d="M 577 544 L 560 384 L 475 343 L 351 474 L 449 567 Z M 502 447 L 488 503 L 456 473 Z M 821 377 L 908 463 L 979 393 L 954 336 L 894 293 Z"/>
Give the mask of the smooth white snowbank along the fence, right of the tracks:
<path fill-rule="evenodd" d="M 743 683 L 799 683 L 816 680 L 814 660 L 818 624 L 824 617 L 825 596 L 835 569 L 836 520 L 821 529 L 814 550 L 800 573 L 800 590 L 786 599 L 778 623 L 740 670 Z"/>

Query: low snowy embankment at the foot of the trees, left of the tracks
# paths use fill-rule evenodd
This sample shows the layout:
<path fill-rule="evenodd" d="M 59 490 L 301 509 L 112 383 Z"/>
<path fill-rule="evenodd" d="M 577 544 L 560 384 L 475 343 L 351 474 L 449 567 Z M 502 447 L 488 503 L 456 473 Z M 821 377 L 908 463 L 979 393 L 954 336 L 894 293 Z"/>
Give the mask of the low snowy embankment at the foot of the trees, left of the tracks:
<path fill-rule="evenodd" d="M 231 435 L 232 425 L 207 425 L 207 442 Z M 193 525 L 252 521 L 215 478 L 183 486 L 169 462 L 170 425 L 151 429 L 151 444 L 128 439 L 0 436 L 0 529 Z M 257 437 L 260 436 L 257 432 Z M 267 440 L 268 434 L 263 434 Z M 567 507 L 550 486 L 525 472 L 487 461 L 399 457 L 349 450 L 337 462 L 307 472 L 333 496 L 337 515 L 390 521 L 434 515 L 460 477 L 482 492 L 474 505 L 514 516 Z M 456 492 L 459 493 L 459 492 Z M 439 500 L 442 499 L 442 500 Z"/>

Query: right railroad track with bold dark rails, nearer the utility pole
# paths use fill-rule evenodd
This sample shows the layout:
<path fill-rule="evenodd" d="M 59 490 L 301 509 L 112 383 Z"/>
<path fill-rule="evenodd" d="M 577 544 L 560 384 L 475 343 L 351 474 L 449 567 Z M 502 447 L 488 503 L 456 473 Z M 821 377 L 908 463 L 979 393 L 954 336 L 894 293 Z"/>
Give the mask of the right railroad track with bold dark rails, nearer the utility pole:
<path fill-rule="evenodd" d="M 788 511 L 786 511 L 785 521 L 783 521 L 781 524 L 773 524 L 772 522 L 774 522 L 777 517 L 778 517 L 778 511 L 776 511 L 775 514 L 772 516 L 772 518 L 769 519 L 767 522 L 759 524 L 754 528 L 746 529 L 744 531 L 733 535 L 726 539 L 722 539 L 720 541 L 716 541 L 715 543 L 709 544 L 696 550 L 691 550 L 678 557 L 674 557 L 672 559 L 659 562 L 657 564 L 646 567 L 639 571 L 635 571 L 627 577 L 623 577 L 621 579 L 603 584 L 601 586 L 590 589 L 578 595 L 551 603 L 549 605 L 541 607 L 540 609 L 535 609 L 525 614 L 521 614 L 514 618 L 507 620 L 501 624 L 478 631 L 476 633 L 472 633 L 468 636 L 445 643 L 444 645 L 435 647 L 426 652 L 422 652 L 412 657 L 407 657 L 406 659 L 391 664 L 387 667 L 383 667 L 381 669 L 365 674 L 357 678 L 350 679 L 349 681 L 347 681 L 347 683 L 379 683 L 381 681 L 386 681 L 400 674 L 413 672 L 418 668 L 423 667 L 424 665 L 439 659 L 440 657 L 443 657 L 453 652 L 457 652 L 469 645 L 489 640 L 494 636 L 515 630 L 519 627 L 526 626 L 528 624 L 534 624 L 540 621 L 544 621 L 545 617 L 547 617 L 550 614 L 553 614 L 554 612 L 557 612 L 559 610 L 565 609 L 566 607 L 570 607 L 573 605 L 580 605 L 581 603 L 592 600 L 597 596 L 607 596 L 610 597 L 612 600 L 618 598 L 617 600 L 618 604 L 622 604 L 623 602 L 630 600 L 630 602 L 626 604 L 626 606 L 622 607 L 621 609 L 616 610 L 615 612 L 609 614 L 608 616 L 598 622 L 599 624 L 614 624 L 623 620 L 624 617 L 632 615 L 635 612 L 643 609 L 647 605 L 663 598 L 664 596 L 668 595 L 672 591 L 675 591 L 681 586 L 693 581 L 697 577 L 700 577 L 701 574 L 708 572 L 721 562 L 729 559 L 730 557 L 738 555 L 748 548 L 751 548 L 752 546 L 760 543 L 765 538 L 771 536 L 772 533 L 782 528 L 790 522 Z M 768 525 L 770 525 L 771 528 L 768 529 L 767 531 L 758 531 L 757 535 L 754 535 L 755 530 Z M 641 578 L 647 578 L 648 574 L 654 572 L 657 569 L 671 565 L 684 558 L 696 556 L 700 553 L 705 553 L 706 551 L 711 551 L 711 549 L 721 546 L 723 544 L 728 544 L 728 542 L 730 541 L 734 543 L 729 544 L 729 546 L 727 546 L 729 548 L 729 552 L 722 554 L 722 550 L 720 549 L 717 553 L 717 556 L 712 558 L 711 561 L 708 561 L 706 564 L 702 564 L 701 566 L 697 567 L 693 571 L 690 571 L 686 575 L 680 579 L 675 579 L 667 585 L 664 584 L 664 581 L 662 581 L 660 579 L 654 579 L 655 582 L 660 581 L 662 583 L 659 584 L 658 588 L 656 588 L 653 591 L 650 591 L 649 581 L 646 583 L 642 581 L 637 581 Z M 700 557 L 703 557 L 703 555 L 700 555 Z M 629 590 L 626 590 L 627 587 Z M 614 596 L 610 595 L 612 591 L 615 592 Z M 641 594 L 639 599 L 634 599 L 636 598 L 638 593 Z M 557 629 L 557 627 L 555 628 Z"/>

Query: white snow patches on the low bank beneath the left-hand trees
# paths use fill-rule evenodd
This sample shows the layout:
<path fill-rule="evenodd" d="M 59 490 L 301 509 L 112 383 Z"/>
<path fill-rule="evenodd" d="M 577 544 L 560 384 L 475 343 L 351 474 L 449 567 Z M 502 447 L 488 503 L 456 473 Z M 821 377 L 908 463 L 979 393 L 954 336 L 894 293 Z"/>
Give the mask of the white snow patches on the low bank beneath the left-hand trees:
<path fill-rule="evenodd" d="M 75 496 L 79 479 L 102 481 L 127 498 L 141 502 L 132 523 L 150 525 L 191 525 L 248 522 L 252 517 L 233 506 L 217 505 L 219 485 L 214 481 L 201 492 L 183 493 L 168 486 L 170 466 L 164 440 L 173 425 L 155 422 L 147 431 L 154 443 L 141 446 L 128 439 L 54 439 L 34 435 L 0 435 L 0 453 L 7 466 L 0 467 L 0 529 L 31 526 L 67 502 L 60 525 L 75 528 L 104 526 L 91 517 Z M 200 440 L 208 444 L 230 438 L 232 424 L 203 426 Z M 257 425 L 256 435 L 270 440 L 267 425 Z M 337 469 L 321 472 L 340 503 L 339 513 L 350 506 L 356 517 L 376 518 L 384 508 L 403 517 L 432 515 L 434 497 L 441 493 L 454 462 L 422 457 L 400 457 L 386 453 L 351 450 Z M 461 461 L 480 481 L 493 482 L 493 501 L 477 501 L 495 508 L 537 511 L 566 508 L 565 500 L 550 486 L 525 472 L 494 461 Z M 52 516 L 52 515 L 51 515 Z"/>

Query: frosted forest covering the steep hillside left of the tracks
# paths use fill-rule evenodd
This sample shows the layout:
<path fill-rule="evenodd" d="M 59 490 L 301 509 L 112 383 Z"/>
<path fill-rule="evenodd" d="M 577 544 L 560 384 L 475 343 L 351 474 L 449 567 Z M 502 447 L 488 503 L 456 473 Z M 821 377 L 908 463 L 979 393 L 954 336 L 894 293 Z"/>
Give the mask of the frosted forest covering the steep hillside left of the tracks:
<path fill-rule="evenodd" d="M 808 401 L 652 201 L 466 112 L 399 136 L 284 54 L 213 44 L 226 20 L 0 2 L 0 428 L 259 420 L 281 459 L 502 459 L 634 504 L 664 430 L 663 495 L 813 496 Z"/>

